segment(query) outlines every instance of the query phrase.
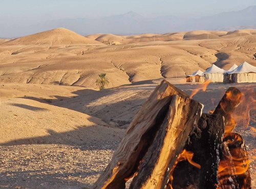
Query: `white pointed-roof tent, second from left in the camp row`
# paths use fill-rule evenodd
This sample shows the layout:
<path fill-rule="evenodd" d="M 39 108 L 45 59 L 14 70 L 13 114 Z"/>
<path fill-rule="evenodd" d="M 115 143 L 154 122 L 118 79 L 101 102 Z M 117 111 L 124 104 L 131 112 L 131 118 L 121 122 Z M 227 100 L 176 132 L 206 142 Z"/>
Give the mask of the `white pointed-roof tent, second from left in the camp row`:
<path fill-rule="evenodd" d="M 206 71 L 203 73 L 204 80 L 210 80 L 211 82 L 223 82 L 223 74 L 225 73 L 224 69 L 217 67 L 212 64 Z"/>

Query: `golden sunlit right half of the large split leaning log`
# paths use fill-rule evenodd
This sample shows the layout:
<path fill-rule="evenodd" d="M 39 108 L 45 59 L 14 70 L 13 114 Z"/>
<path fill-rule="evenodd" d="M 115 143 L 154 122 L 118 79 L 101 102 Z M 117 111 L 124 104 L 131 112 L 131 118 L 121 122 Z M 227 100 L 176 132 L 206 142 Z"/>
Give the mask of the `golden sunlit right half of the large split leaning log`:
<path fill-rule="evenodd" d="M 169 170 L 183 150 L 190 132 L 200 119 L 202 106 L 194 100 L 175 96 L 157 135 L 145 154 L 130 188 L 164 188 Z"/>

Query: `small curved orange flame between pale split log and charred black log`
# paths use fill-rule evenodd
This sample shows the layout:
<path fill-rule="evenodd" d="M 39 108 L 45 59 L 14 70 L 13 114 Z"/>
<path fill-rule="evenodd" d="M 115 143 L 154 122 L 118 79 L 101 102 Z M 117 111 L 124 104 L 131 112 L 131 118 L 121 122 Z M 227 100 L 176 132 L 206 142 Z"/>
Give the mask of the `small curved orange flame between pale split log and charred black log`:
<path fill-rule="evenodd" d="M 170 171 L 170 176 L 169 176 L 169 182 L 167 184 L 167 189 L 168 188 L 173 189 L 173 186 L 172 186 L 172 182 L 173 182 L 173 179 L 174 179 L 173 173 L 174 173 L 174 170 L 175 170 L 177 164 L 180 161 L 187 160 L 191 165 L 195 166 L 198 169 L 201 169 L 200 164 L 198 164 L 198 163 L 196 163 L 195 161 L 192 160 L 193 156 L 194 156 L 193 152 L 186 151 L 185 149 L 180 153 L 180 155 L 177 157 L 177 159 L 174 163 L 174 166 L 173 166 L 172 170 Z"/>

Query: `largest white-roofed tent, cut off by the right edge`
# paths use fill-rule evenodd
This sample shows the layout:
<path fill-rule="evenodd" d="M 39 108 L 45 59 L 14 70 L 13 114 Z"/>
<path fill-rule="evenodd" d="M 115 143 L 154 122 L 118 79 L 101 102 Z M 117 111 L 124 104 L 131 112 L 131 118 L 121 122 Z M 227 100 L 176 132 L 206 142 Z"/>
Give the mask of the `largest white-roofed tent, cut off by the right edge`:
<path fill-rule="evenodd" d="M 242 63 L 236 69 L 231 72 L 227 72 L 229 82 L 245 83 L 245 82 L 256 82 L 256 67 L 249 64 L 248 62 Z M 226 75 L 225 75 L 226 76 Z M 226 82 L 226 80 L 224 81 Z"/>

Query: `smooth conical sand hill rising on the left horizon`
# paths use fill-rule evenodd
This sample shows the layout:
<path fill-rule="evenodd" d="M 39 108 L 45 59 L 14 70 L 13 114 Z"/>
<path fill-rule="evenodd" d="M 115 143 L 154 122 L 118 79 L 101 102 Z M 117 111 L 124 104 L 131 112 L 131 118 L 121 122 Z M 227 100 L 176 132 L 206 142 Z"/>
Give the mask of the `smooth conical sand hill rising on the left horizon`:
<path fill-rule="evenodd" d="M 32 44 L 51 44 L 51 45 L 70 45 L 70 44 L 99 44 L 99 42 L 83 37 L 65 28 L 57 28 L 25 37 L 9 40 L 7 45 L 32 45 Z"/>

